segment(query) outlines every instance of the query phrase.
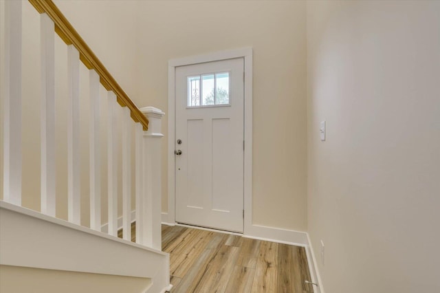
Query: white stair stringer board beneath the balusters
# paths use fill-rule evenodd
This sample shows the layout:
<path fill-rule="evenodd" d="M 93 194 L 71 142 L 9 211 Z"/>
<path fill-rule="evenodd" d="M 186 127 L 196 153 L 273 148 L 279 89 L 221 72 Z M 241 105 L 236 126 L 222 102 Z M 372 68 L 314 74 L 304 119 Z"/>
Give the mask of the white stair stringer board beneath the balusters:
<path fill-rule="evenodd" d="M 169 287 L 169 254 L 0 201 L 0 264 L 151 279 Z"/>

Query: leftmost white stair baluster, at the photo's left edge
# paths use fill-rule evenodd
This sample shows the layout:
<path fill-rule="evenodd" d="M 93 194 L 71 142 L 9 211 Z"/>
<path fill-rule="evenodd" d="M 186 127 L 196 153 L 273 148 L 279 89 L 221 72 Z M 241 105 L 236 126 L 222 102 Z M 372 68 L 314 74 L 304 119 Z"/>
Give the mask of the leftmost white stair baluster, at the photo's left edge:
<path fill-rule="evenodd" d="M 21 1 L 4 7 L 3 200 L 21 206 Z"/>

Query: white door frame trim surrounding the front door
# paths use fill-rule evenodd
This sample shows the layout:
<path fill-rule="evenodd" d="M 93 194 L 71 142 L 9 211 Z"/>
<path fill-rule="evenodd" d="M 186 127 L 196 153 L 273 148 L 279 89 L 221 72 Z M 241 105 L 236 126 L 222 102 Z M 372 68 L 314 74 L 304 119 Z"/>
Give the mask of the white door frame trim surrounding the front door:
<path fill-rule="evenodd" d="M 175 224 L 175 69 L 179 66 L 244 58 L 244 227 L 243 234 L 252 228 L 252 47 L 228 50 L 199 56 L 172 59 L 168 61 L 168 214 L 162 214 L 162 221 Z"/>

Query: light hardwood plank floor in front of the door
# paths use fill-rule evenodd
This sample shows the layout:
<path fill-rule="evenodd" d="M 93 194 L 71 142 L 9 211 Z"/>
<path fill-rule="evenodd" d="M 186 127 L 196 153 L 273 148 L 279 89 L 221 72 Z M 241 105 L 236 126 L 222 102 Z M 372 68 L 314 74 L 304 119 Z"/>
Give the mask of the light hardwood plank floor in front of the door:
<path fill-rule="evenodd" d="M 172 293 L 313 292 L 303 247 L 162 226 L 162 250 L 170 254 Z"/>

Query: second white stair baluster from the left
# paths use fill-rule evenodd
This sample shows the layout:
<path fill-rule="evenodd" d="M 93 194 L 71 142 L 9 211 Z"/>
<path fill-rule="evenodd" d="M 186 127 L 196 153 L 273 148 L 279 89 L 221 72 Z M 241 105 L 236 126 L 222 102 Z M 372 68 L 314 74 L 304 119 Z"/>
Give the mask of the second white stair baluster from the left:
<path fill-rule="evenodd" d="M 15 2 L 15 1 L 12 1 Z M 41 17 L 41 213 L 55 217 L 54 22 Z"/>

